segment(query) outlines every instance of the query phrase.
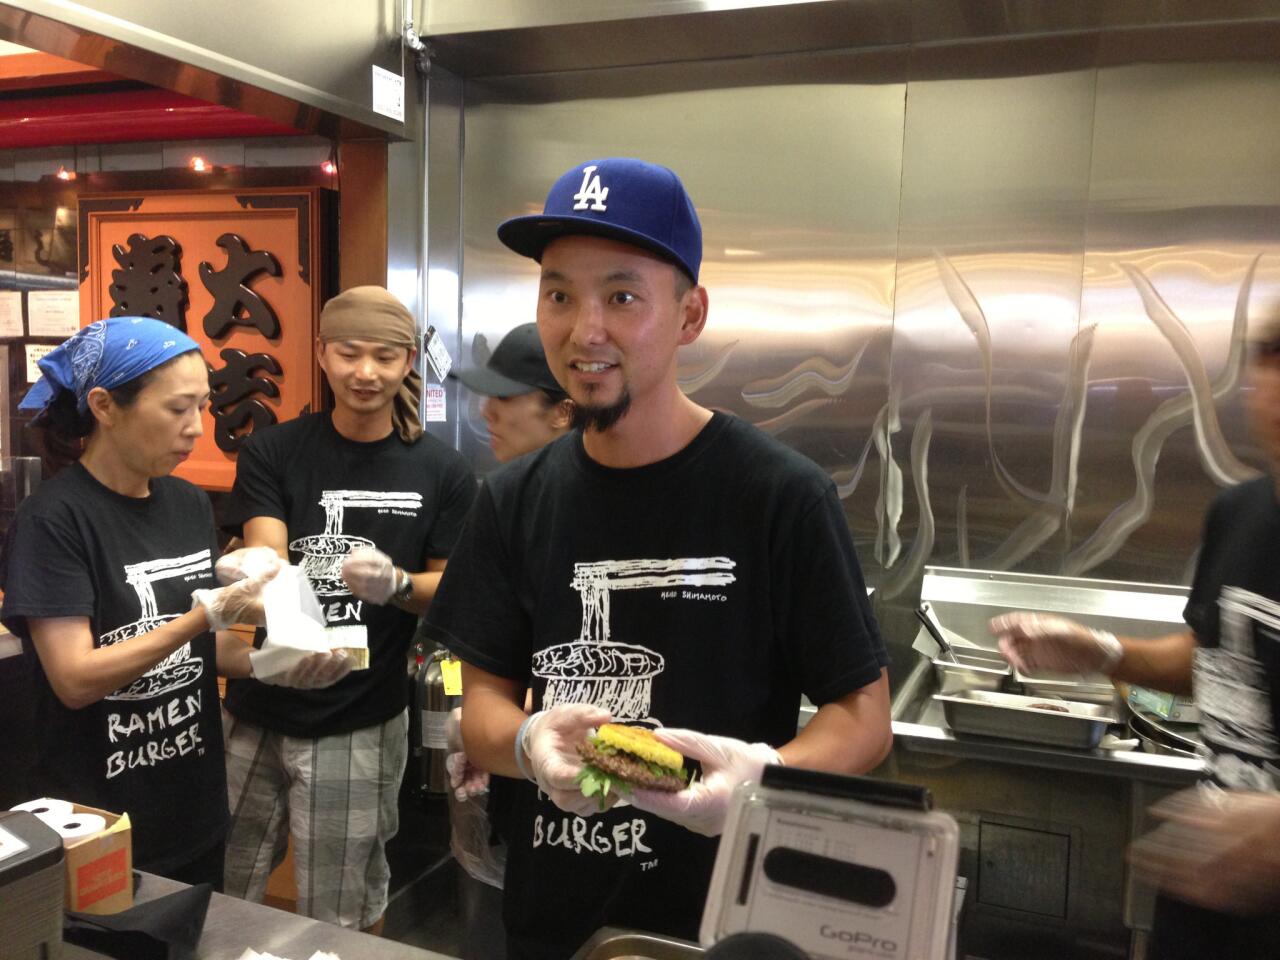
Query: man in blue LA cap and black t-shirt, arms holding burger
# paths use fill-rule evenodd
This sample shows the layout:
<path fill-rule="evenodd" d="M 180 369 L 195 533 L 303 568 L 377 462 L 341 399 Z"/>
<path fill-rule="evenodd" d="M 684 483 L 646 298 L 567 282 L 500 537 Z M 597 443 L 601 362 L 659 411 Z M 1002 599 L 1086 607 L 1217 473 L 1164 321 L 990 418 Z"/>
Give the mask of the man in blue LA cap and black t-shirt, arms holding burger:
<path fill-rule="evenodd" d="M 739 783 L 888 753 L 884 648 L 831 479 L 680 390 L 708 294 L 676 174 L 588 161 L 498 236 L 541 265 L 538 330 L 580 428 L 490 475 L 428 614 L 463 660 L 467 754 L 517 780 L 509 955 L 563 960 L 603 925 L 694 938 Z M 801 694 L 819 709 L 797 735 Z M 599 795 L 582 755 L 611 721 L 657 728 L 700 778 Z"/>

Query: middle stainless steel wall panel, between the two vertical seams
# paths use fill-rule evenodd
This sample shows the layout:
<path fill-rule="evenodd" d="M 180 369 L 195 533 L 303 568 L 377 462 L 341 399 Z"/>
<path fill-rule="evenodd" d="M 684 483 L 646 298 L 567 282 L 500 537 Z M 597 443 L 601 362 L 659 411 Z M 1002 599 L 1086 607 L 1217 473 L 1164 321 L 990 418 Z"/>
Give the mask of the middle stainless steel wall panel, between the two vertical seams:
<path fill-rule="evenodd" d="M 1061 559 L 1091 339 L 1078 311 L 1094 50 L 1021 46 L 1010 52 L 1052 72 L 916 81 L 942 55 L 913 52 L 891 372 L 908 492 L 896 532 L 913 548 L 895 556 L 882 538 L 884 599 L 914 595 L 925 562 L 1053 572 Z M 1005 55 L 947 51 L 945 67 Z"/>

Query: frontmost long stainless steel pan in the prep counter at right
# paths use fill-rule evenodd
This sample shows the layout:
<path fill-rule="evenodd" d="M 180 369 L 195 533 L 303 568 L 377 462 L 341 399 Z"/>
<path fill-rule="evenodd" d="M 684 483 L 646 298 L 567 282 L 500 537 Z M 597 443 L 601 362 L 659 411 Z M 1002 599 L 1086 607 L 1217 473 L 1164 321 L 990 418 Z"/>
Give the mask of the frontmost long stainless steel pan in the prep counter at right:
<path fill-rule="evenodd" d="M 1102 705 L 1051 700 L 1016 694 L 969 690 L 933 698 L 942 704 L 947 726 L 956 733 L 1027 740 L 1052 746 L 1094 748 L 1107 726 L 1119 721 Z M 1050 710 L 1033 704 L 1050 704 Z"/>

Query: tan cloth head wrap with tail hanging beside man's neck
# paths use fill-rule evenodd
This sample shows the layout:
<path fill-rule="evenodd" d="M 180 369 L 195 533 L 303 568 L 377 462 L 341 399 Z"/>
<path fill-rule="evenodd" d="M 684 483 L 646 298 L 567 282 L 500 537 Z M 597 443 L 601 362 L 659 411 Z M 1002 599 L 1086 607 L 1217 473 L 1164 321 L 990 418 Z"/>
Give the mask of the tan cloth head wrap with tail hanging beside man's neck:
<path fill-rule="evenodd" d="M 320 339 L 325 343 L 372 340 L 416 351 L 417 324 L 404 305 L 381 287 L 352 287 L 324 305 Z M 417 417 L 421 399 L 422 375 L 410 370 L 392 410 L 396 433 L 404 443 L 413 443 L 422 435 L 422 422 Z"/>

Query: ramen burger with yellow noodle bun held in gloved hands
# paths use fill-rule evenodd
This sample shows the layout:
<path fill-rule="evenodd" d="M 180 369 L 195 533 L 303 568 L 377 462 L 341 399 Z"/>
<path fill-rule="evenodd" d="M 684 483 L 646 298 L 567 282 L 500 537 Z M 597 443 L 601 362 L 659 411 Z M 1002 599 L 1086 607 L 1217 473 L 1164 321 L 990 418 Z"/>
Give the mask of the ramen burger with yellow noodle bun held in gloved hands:
<path fill-rule="evenodd" d="M 684 755 L 644 727 L 605 723 L 577 753 L 584 760 L 577 786 L 582 796 L 596 797 L 602 810 L 614 791 L 630 794 L 635 786 L 675 794 L 689 786 Z"/>

